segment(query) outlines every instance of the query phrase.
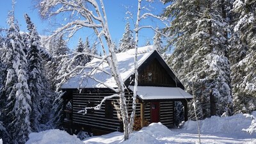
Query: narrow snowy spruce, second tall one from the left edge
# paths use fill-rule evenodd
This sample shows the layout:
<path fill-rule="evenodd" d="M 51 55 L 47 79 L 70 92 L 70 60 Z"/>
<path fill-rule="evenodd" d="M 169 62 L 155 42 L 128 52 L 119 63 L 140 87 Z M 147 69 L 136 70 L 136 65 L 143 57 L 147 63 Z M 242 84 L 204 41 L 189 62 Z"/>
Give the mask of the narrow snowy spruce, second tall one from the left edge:
<path fill-rule="evenodd" d="M 42 56 L 40 53 L 40 36 L 38 35 L 35 25 L 31 22 L 28 14 L 24 15 L 28 28 L 28 86 L 31 95 L 31 128 L 33 132 L 40 131 L 40 119 L 42 118 L 41 109 L 45 106 L 41 105 L 40 100 L 45 99 L 47 95 L 45 92 L 49 91 L 45 89 L 45 76 L 44 67 L 42 65 Z"/>

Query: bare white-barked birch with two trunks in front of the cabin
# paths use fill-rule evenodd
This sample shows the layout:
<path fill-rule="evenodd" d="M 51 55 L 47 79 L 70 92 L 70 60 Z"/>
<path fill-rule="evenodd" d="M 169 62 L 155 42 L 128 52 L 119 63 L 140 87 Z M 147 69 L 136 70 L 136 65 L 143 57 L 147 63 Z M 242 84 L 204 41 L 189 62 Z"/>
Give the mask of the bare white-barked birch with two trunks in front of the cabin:
<path fill-rule="evenodd" d="M 40 15 L 47 19 L 51 17 L 58 17 L 58 15 L 65 15 L 67 17 L 71 17 L 72 19 L 69 20 L 66 24 L 63 24 L 60 28 L 56 29 L 52 36 L 56 35 L 67 35 L 68 38 L 72 37 L 79 29 L 82 28 L 91 28 L 93 29 L 95 35 L 97 35 L 100 47 L 103 52 L 103 56 L 97 56 L 95 54 L 90 54 L 88 52 L 77 52 L 75 53 L 76 56 L 79 56 L 81 54 L 86 54 L 95 58 L 101 59 L 100 63 L 103 61 L 106 61 L 109 65 L 109 68 L 111 70 L 111 76 L 115 79 L 117 88 L 113 88 L 111 86 L 108 86 L 107 84 L 102 83 L 99 79 L 95 79 L 95 77 L 91 77 L 90 73 L 84 73 L 83 68 L 92 68 L 92 67 L 86 67 L 86 65 L 78 65 L 76 68 L 71 70 L 68 74 L 65 74 L 66 77 L 72 75 L 73 72 L 76 72 L 77 70 L 82 73 L 85 76 L 88 76 L 95 81 L 104 84 L 104 86 L 110 88 L 117 94 L 111 95 L 108 97 L 105 97 L 98 106 L 93 107 L 93 109 L 100 109 L 100 106 L 102 102 L 106 99 L 111 99 L 113 97 L 119 97 L 120 100 L 120 112 L 122 115 L 122 120 L 124 124 L 124 140 L 127 140 L 129 138 L 129 133 L 132 132 L 133 124 L 134 124 L 134 113 L 136 108 L 136 93 L 137 93 L 137 85 L 138 85 L 138 65 L 137 65 L 137 49 L 138 49 L 138 31 L 143 28 L 152 28 L 152 26 L 140 26 L 140 20 L 146 19 L 147 17 L 154 17 L 157 19 L 161 19 L 161 17 L 158 17 L 156 15 L 153 15 L 152 13 L 143 13 L 143 15 L 140 14 L 141 12 L 141 1 L 138 0 L 138 13 L 136 17 L 136 23 L 135 23 L 135 33 L 136 33 L 136 46 L 135 46 L 135 56 L 134 56 L 134 73 L 135 73 L 135 83 L 134 83 L 134 95 L 133 95 L 133 102 L 132 102 L 132 114 L 130 116 L 127 111 L 127 104 L 125 99 L 125 86 L 124 81 L 122 77 L 120 76 L 120 72 L 118 70 L 118 61 L 116 60 L 116 54 L 115 54 L 115 43 L 111 39 L 111 35 L 109 34 L 109 28 L 108 28 L 108 20 L 105 12 L 105 7 L 103 0 L 42 0 L 40 4 L 38 4 L 40 8 Z M 76 14 L 75 14 L 76 13 Z M 66 19 L 66 18 L 65 18 Z M 163 19 L 161 19 L 163 20 Z M 65 22 L 65 20 L 63 20 Z M 51 38 L 51 37 L 50 37 Z M 106 44 L 106 45 L 104 45 Z M 74 60 L 73 58 L 73 60 Z M 72 60 L 71 60 L 72 61 Z M 99 65 L 100 65 L 99 63 Z M 98 66 L 99 66 L 98 65 Z M 101 70 L 104 72 L 104 70 L 100 69 L 99 67 L 93 67 L 92 70 Z M 86 113 L 85 108 L 83 110 L 84 113 Z"/>

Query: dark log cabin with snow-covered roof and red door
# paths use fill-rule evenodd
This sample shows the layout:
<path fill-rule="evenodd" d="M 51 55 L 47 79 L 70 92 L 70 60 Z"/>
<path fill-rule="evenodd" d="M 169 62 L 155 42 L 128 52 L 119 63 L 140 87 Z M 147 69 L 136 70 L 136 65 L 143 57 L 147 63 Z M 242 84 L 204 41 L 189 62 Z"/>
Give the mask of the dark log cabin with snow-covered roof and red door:
<path fill-rule="evenodd" d="M 118 69 L 125 85 L 128 113 L 132 111 L 134 90 L 134 49 L 116 54 Z M 84 108 L 100 104 L 104 97 L 113 95 L 111 88 L 116 83 L 108 64 L 94 58 L 87 67 L 90 76 L 79 74 L 62 85 L 63 125 L 70 133 L 75 131 L 93 132 L 93 135 L 123 131 L 118 98 L 107 99 L 99 110 Z M 184 86 L 168 67 L 153 45 L 138 48 L 138 91 L 136 98 L 135 130 L 152 122 L 161 122 L 166 127 L 175 124 L 175 101 L 184 106 L 184 120 L 188 120 L 188 100 L 192 96 L 184 91 Z M 95 80 L 96 79 L 96 80 Z M 111 88 L 109 88 L 111 87 Z"/>

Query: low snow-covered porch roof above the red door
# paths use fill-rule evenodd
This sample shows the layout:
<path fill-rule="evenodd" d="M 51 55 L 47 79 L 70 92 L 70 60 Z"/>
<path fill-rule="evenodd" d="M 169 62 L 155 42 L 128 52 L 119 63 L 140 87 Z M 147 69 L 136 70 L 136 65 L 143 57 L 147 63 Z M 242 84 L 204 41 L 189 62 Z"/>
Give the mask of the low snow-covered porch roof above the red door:
<path fill-rule="evenodd" d="M 137 95 L 142 100 L 192 99 L 192 95 L 177 87 L 138 86 Z M 129 86 L 134 90 L 134 86 Z"/>

